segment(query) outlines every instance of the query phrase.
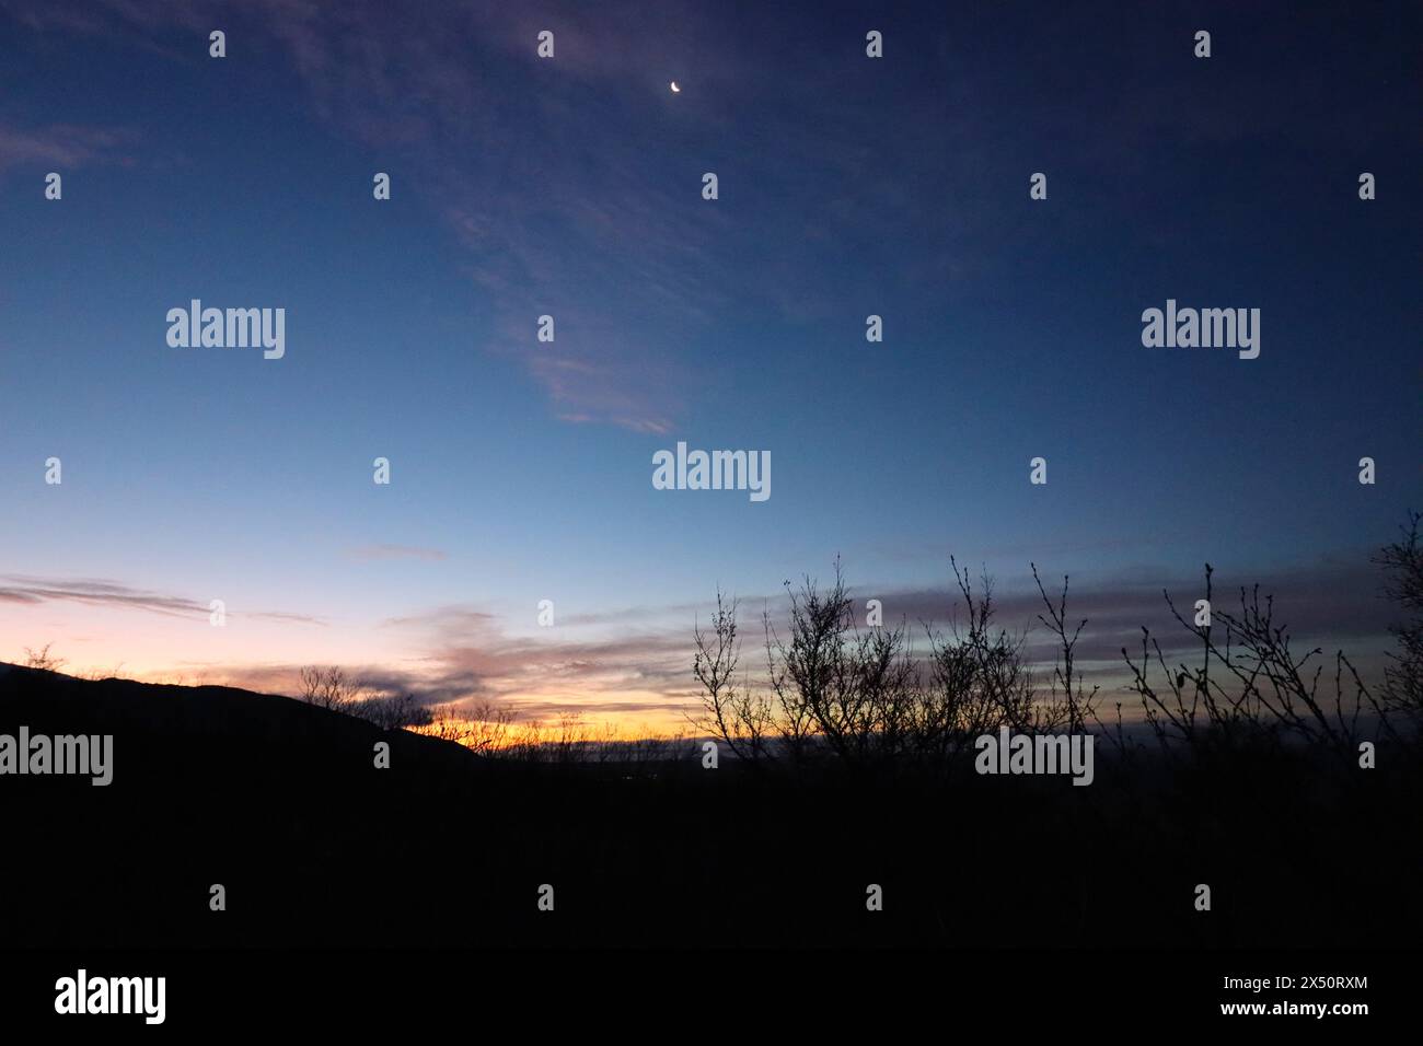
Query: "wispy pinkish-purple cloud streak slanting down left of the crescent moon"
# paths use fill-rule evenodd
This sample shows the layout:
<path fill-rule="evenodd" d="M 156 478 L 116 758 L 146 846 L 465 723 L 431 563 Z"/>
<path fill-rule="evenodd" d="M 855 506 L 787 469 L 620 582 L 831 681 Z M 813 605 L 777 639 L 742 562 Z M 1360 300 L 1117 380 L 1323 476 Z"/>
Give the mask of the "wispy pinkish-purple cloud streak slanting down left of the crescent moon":
<path fill-rule="evenodd" d="M 313 33 L 310 21 L 287 31 L 319 118 L 374 148 L 398 149 L 403 167 L 421 172 L 417 191 L 438 205 L 464 249 L 465 276 L 490 302 L 487 352 L 522 366 L 554 417 L 669 431 L 680 404 L 667 390 L 684 387 L 687 376 L 659 332 L 686 333 L 710 312 L 682 275 L 699 238 L 689 218 L 673 218 L 669 189 L 652 172 L 588 151 L 566 162 L 549 145 L 576 138 L 582 117 L 555 95 L 602 75 L 592 56 L 605 51 L 606 27 L 585 34 L 576 16 L 559 20 L 559 68 L 569 77 L 541 98 L 495 90 L 511 65 L 532 61 L 536 37 L 502 10 L 445 11 L 398 33 L 383 19 L 361 11 L 339 34 Z M 451 53 L 448 41 L 471 28 L 457 23 L 470 19 L 487 61 Z M 356 41 L 359 68 L 337 50 Z M 501 148 L 490 149 L 491 141 Z M 635 256 L 629 242 L 638 243 Z M 608 303 L 618 315 L 603 319 Z M 531 354 L 534 320 L 545 313 L 556 317 L 558 337 Z"/>

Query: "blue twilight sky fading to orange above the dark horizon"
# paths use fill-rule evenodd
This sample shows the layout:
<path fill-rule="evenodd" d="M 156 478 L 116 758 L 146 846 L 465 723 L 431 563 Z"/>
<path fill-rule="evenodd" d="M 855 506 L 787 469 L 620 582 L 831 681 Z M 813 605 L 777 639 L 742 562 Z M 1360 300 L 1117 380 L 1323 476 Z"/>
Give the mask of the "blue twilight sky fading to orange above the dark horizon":
<path fill-rule="evenodd" d="M 1010 625 L 1070 574 L 1103 677 L 1205 561 L 1376 656 L 1368 558 L 1423 508 L 1419 21 L 0 0 L 0 660 L 660 727 L 719 586 L 754 618 L 840 556 L 943 620 L 951 554 Z M 191 299 L 285 309 L 283 357 L 171 346 Z M 1167 299 L 1259 309 L 1259 357 L 1144 347 Z M 770 453 L 771 497 L 656 490 L 679 441 Z"/>

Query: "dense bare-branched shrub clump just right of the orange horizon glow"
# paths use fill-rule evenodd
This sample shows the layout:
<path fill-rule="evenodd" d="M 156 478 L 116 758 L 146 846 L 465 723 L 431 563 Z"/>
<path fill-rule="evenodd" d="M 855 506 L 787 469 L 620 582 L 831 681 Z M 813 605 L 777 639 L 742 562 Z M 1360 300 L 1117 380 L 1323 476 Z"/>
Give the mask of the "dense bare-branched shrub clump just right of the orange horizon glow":
<path fill-rule="evenodd" d="M 1074 672 L 1081 625 L 1067 632 L 1066 579 L 1056 603 L 1043 592 L 1049 613 L 1043 620 L 1062 645 L 1052 692 L 1043 699 L 1023 656 L 1026 632 L 1010 633 L 993 620 L 992 581 L 985 576 L 976 591 L 968 571 L 949 562 L 966 616 L 953 620 L 948 636 L 929 630 L 922 655 L 912 649 L 904 623 L 857 628 L 838 561 L 825 588 L 810 578 L 798 589 L 787 582 L 785 636 L 768 612 L 763 615 L 761 689 L 734 679 L 737 605 L 719 593 L 710 632 L 694 633 L 702 707 L 693 724 L 753 763 L 801 761 L 824 751 L 850 766 L 942 760 L 999 726 L 1084 730 L 1096 689 L 1089 692 Z"/>

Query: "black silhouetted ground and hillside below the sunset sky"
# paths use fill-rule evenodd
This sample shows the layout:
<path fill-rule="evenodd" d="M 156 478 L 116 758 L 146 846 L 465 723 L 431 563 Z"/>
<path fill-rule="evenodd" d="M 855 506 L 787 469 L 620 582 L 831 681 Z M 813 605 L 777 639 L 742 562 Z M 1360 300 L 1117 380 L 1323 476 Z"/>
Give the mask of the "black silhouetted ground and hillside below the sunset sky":
<path fill-rule="evenodd" d="M 9 669 L 0 733 L 20 724 L 114 734 L 114 783 L 0 777 L 9 948 L 1413 948 L 1423 929 L 1420 773 L 1387 743 L 1370 771 L 1279 750 L 1124 766 L 1099 746 L 1091 787 L 969 757 L 938 778 L 629 773 L 487 760 L 285 697 Z"/>

